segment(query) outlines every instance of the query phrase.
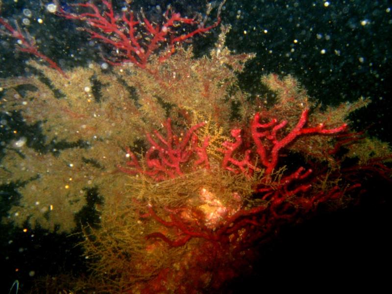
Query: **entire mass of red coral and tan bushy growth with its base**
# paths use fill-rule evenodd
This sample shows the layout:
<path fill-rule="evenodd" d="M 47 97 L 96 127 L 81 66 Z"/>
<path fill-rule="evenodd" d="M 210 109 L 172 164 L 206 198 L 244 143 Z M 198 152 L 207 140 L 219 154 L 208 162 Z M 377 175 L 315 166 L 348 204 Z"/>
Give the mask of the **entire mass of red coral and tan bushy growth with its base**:
<path fill-rule="evenodd" d="M 224 46 L 228 26 L 210 56 L 196 59 L 192 47 L 180 46 L 216 27 L 221 6 L 210 26 L 170 8 L 161 25 L 143 13 L 117 15 L 105 0 L 75 9 L 58 5 L 57 14 L 114 49 L 106 60 L 115 67 L 59 75 L 43 58 L 49 66 L 29 62 L 40 76 L 1 80 L 4 114 L 39 125 L 45 139 L 38 150 L 14 130 L 0 174 L 21 196 L 3 220 L 16 225 L 69 232 L 86 191 L 104 197 L 99 229 L 85 228 L 83 244 L 94 278 L 76 290 L 218 289 L 249 269 L 254 248 L 283 225 L 320 204 L 358 199 L 364 174 L 391 181 L 389 146 L 349 130 L 347 116 L 369 99 L 322 111 L 292 76 L 270 74 L 261 82 L 276 93 L 275 104 L 249 102 L 236 73 L 254 55 Z M 24 48 L 22 31 L 1 24 Z"/>

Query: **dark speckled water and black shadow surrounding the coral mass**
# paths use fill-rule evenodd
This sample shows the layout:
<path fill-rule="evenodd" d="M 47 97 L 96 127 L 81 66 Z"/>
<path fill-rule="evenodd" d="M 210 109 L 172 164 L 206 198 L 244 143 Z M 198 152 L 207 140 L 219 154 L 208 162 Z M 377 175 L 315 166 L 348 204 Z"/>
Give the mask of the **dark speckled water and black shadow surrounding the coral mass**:
<path fill-rule="evenodd" d="M 41 5 L 41 2 L 43 5 Z M 61 1 L 65 9 L 75 1 Z M 387 0 L 227 0 L 221 19 L 232 30 L 227 46 L 235 52 L 255 52 L 257 56 L 240 75 L 241 87 L 256 96 L 264 89 L 260 76 L 266 73 L 293 74 L 323 104 L 354 101 L 361 96 L 373 102 L 354 114 L 353 128 L 367 128 L 372 136 L 392 141 L 392 3 Z M 100 46 L 77 31 L 77 24 L 56 17 L 45 9 L 49 1 L 6 0 L 0 15 L 16 19 L 35 37 L 40 50 L 64 68 L 101 62 Z M 116 9 L 123 1 L 113 1 Z M 182 15 L 205 11 L 205 1 L 134 0 L 132 8 L 144 7 L 148 18 L 159 18 L 168 3 Z M 218 4 L 219 2 L 215 2 Z M 28 9 L 29 13 L 24 10 Z M 211 15 L 212 23 L 215 12 Z M 43 24 L 37 19 L 41 18 Z M 216 29 L 193 40 L 196 55 L 208 52 L 216 40 Z M 0 38 L 0 77 L 25 75 L 30 56 L 15 52 L 15 40 Z M 9 134 L 0 133 L 7 142 Z M 11 189 L 12 187 L 7 187 Z M 5 188 L 4 188 L 5 189 Z M 391 263 L 391 201 L 385 191 L 370 191 L 374 201 L 334 214 L 320 215 L 296 228 L 285 230 L 268 247 L 263 261 L 255 264 L 254 275 L 233 281 L 228 288 L 269 283 L 272 278 L 295 278 L 320 283 L 387 284 L 384 265 Z M 11 192 L 1 192 L 2 216 L 6 215 Z M 45 231 L 22 232 L 19 228 L 0 229 L 0 265 L 7 293 L 14 279 L 25 287 L 37 276 L 59 271 L 83 272 L 83 258 L 73 248 L 72 239 Z M 34 237 L 31 237 L 31 235 Z M 12 241 L 12 242 L 10 242 Z M 304 271 L 299 269 L 304 267 Z M 19 271 L 15 271 L 16 269 Z M 332 268 L 332 270 L 330 270 Z M 35 271 L 30 277 L 29 272 Z M 356 280 L 345 277 L 353 274 Z M 250 288 L 249 288 L 250 289 Z"/>

